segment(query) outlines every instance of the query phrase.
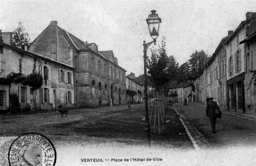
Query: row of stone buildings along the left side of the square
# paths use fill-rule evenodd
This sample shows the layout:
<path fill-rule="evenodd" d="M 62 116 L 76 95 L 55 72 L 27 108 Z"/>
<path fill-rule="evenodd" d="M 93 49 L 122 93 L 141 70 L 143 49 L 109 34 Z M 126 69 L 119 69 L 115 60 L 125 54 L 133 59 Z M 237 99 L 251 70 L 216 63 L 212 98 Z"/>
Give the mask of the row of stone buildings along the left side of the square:
<path fill-rule="evenodd" d="M 13 102 L 9 94 L 17 95 L 20 108 L 32 109 L 107 104 L 110 98 L 114 104 L 127 102 L 126 70 L 118 65 L 113 51 L 99 51 L 95 43 L 81 41 L 56 21 L 25 50 L 12 46 L 12 33 L 3 33 L 3 38 L 0 77 L 11 72 L 28 75 L 35 67 L 44 81 L 37 91 L 22 84 L 0 85 L 0 109 L 8 109 Z M 142 86 L 138 88 L 143 92 Z"/>

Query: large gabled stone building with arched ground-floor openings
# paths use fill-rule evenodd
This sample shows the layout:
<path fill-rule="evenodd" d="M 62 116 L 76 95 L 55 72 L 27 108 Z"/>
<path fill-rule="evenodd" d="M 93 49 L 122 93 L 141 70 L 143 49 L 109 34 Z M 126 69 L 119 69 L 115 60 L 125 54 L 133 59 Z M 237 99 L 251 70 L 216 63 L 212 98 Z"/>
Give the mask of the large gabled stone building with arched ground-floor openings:
<path fill-rule="evenodd" d="M 112 50 L 98 51 L 51 21 L 29 45 L 29 51 L 75 68 L 75 103 L 80 105 L 126 102 L 125 72 Z"/>

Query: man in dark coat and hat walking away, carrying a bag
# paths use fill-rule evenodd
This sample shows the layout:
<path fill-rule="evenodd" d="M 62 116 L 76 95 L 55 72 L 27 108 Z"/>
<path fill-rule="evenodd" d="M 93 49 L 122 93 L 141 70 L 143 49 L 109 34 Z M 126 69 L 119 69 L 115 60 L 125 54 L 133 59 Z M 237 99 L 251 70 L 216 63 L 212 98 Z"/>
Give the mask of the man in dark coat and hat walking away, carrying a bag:
<path fill-rule="evenodd" d="M 218 109 L 219 106 L 216 101 L 213 101 L 213 98 L 210 98 L 210 101 L 207 103 L 206 106 L 206 115 L 207 117 L 210 117 L 211 121 L 211 129 L 213 130 L 213 133 L 216 133 L 215 125 L 216 125 L 216 116 L 215 116 L 215 109 Z"/>

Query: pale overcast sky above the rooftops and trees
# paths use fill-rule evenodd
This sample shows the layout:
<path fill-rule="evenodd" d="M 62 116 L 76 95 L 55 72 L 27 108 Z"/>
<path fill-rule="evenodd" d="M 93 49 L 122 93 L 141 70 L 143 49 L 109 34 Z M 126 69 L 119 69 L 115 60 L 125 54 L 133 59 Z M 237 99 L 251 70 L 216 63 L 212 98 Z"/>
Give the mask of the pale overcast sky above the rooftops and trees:
<path fill-rule="evenodd" d="M 256 1 L 0 0 L 0 29 L 14 31 L 21 21 L 32 42 L 50 21 L 57 21 L 82 41 L 97 44 L 99 51 L 113 50 L 126 75 L 137 77 L 144 73 L 143 41 L 153 41 L 146 22 L 151 10 L 162 20 L 156 44 L 165 36 L 167 55 L 181 65 L 195 50 L 211 56 L 228 30 L 235 30 L 247 12 L 256 12 Z"/>

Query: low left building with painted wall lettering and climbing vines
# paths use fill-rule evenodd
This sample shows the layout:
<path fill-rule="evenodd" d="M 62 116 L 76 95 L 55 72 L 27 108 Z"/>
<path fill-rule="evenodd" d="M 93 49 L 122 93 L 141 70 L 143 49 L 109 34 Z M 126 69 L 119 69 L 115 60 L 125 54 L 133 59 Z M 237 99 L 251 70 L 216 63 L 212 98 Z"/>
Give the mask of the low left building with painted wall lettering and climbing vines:
<path fill-rule="evenodd" d="M 35 69 L 41 73 L 43 86 L 35 90 L 27 85 L 12 83 L 0 84 L 0 109 L 9 109 L 9 101 L 18 102 L 20 108 L 53 109 L 60 104 L 74 106 L 74 68 L 52 58 L 17 49 L 12 46 L 12 33 L 3 33 L 4 43 L 0 43 L 1 78 L 6 78 L 11 72 L 29 75 Z M 13 94 L 9 99 L 9 93 Z M 17 103 L 17 104 L 18 104 Z"/>

